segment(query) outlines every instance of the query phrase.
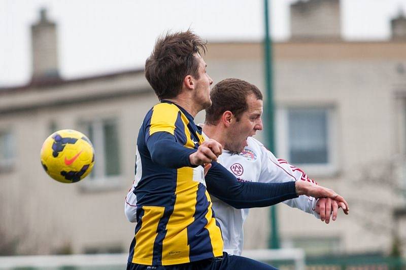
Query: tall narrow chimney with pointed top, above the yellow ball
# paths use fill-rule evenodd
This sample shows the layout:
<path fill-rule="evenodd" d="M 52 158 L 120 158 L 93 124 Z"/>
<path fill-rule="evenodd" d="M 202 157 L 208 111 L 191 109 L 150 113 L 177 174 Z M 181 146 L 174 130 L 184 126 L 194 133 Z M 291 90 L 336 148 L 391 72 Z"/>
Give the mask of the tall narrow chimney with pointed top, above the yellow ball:
<path fill-rule="evenodd" d="M 32 81 L 59 79 L 56 24 L 40 10 L 40 20 L 31 25 Z"/>

